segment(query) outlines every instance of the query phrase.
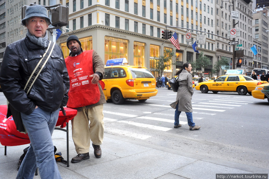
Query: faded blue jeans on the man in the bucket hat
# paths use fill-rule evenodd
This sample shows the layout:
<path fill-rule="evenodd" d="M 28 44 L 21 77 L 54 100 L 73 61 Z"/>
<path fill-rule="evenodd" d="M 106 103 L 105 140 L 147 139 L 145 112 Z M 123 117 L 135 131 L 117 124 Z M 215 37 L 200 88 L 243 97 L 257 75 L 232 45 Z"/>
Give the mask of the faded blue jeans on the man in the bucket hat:
<path fill-rule="evenodd" d="M 46 112 L 36 108 L 31 114 L 21 113 L 21 116 L 31 143 L 16 179 L 33 178 L 36 166 L 40 178 L 61 179 L 51 138 L 59 117 L 59 110 Z"/>

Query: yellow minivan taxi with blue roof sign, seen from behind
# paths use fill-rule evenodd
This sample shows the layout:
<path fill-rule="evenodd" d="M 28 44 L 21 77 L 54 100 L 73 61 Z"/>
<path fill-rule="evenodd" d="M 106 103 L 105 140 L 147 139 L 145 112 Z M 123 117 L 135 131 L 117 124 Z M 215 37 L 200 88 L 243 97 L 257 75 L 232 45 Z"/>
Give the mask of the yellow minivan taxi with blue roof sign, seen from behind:
<path fill-rule="evenodd" d="M 126 58 L 108 60 L 105 66 L 103 90 L 106 100 L 122 104 L 124 100 L 144 102 L 156 96 L 156 79 L 145 67 L 131 66 Z"/>

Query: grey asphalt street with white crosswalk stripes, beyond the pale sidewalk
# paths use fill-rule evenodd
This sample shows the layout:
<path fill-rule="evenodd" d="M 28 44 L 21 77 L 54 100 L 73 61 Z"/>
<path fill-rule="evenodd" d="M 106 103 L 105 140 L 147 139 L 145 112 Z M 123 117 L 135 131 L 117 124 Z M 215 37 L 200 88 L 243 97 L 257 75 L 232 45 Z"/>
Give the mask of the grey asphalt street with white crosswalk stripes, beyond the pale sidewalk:
<path fill-rule="evenodd" d="M 247 94 L 208 92 L 194 89 L 193 121 L 201 126 L 189 131 L 186 114 L 182 127 L 173 128 L 174 111 L 169 104 L 176 93 L 158 88 L 146 102 L 126 100 L 123 105 L 104 105 L 105 135 L 186 157 L 205 157 L 268 168 L 268 105 Z M 0 93 L 0 105 L 6 104 Z M 105 142 L 105 141 L 104 141 Z M 120 147 L 120 146 L 119 146 Z"/>

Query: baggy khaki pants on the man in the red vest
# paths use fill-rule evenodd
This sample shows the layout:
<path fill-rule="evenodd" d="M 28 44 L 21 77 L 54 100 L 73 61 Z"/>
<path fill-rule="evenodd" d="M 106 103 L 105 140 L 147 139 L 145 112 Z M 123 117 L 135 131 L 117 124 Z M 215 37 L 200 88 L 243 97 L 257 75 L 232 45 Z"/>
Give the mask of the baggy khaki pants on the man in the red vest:
<path fill-rule="evenodd" d="M 78 111 L 71 120 L 72 138 L 77 154 L 88 153 L 90 149 L 90 139 L 94 145 L 101 145 L 104 138 L 103 104 Z M 89 124 L 90 121 L 90 124 Z"/>

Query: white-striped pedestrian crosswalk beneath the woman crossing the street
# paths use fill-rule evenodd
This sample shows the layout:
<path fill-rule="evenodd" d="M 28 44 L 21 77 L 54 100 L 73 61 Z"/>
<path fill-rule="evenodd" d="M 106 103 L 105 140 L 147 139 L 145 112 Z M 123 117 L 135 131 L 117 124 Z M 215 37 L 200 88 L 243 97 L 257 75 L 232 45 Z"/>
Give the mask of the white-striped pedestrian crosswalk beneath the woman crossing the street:
<path fill-rule="evenodd" d="M 214 95 L 214 98 L 216 96 Z M 106 108 L 104 106 L 104 122 L 105 122 L 105 132 L 108 134 L 122 135 L 126 137 L 137 138 L 141 140 L 146 140 L 152 136 L 147 135 L 148 133 L 141 134 L 142 131 L 155 130 L 169 132 L 172 131 L 174 126 L 174 111 L 169 105 L 174 102 L 175 96 L 173 97 L 152 97 L 148 99 L 148 103 L 139 103 L 140 111 L 129 110 L 128 105 L 121 105 L 121 112 L 114 112 L 113 109 Z M 158 101 L 159 103 L 155 103 Z M 160 102 L 163 105 L 160 105 Z M 207 119 L 208 116 L 214 116 L 216 114 L 221 114 L 227 110 L 234 110 L 241 106 L 255 102 L 254 99 L 250 97 L 223 97 L 220 96 L 218 99 L 192 99 L 192 109 L 193 109 L 193 119 L 196 123 L 199 120 Z M 135 100 L 127 101 L 127 103 L 136 103 Z M 114 104 L 111 104 L 112 108 Z M 147 107 L 143 107 L 147 106 Z M 143 109 L 148 111 L 143 111 Z M 149 110 L 151 109 L 151 110 Z M 151 111 L 151 112 L 150 112 Z M 114 125 L 108 125 L 108 123 L 113 123 Z M 182 125 L 188 125 L 187 116 L 183 113 L 179 117 L 179 123 Z M 122 128 L 117 128 L 117 124 L 122 124 L 127 127 L 123 130 Z M 157 125 L 156 125 L 157 124 Z M 158 125 L 159 124 L 159 125 Z M 161 125 L 161 126 L 160 126 Z M 131 130 L 132 128 L 132 130 Z M 136 131 L 137 129 L 137 131 Z M 138 130 L 140 129 L 140 130 Z"/>

